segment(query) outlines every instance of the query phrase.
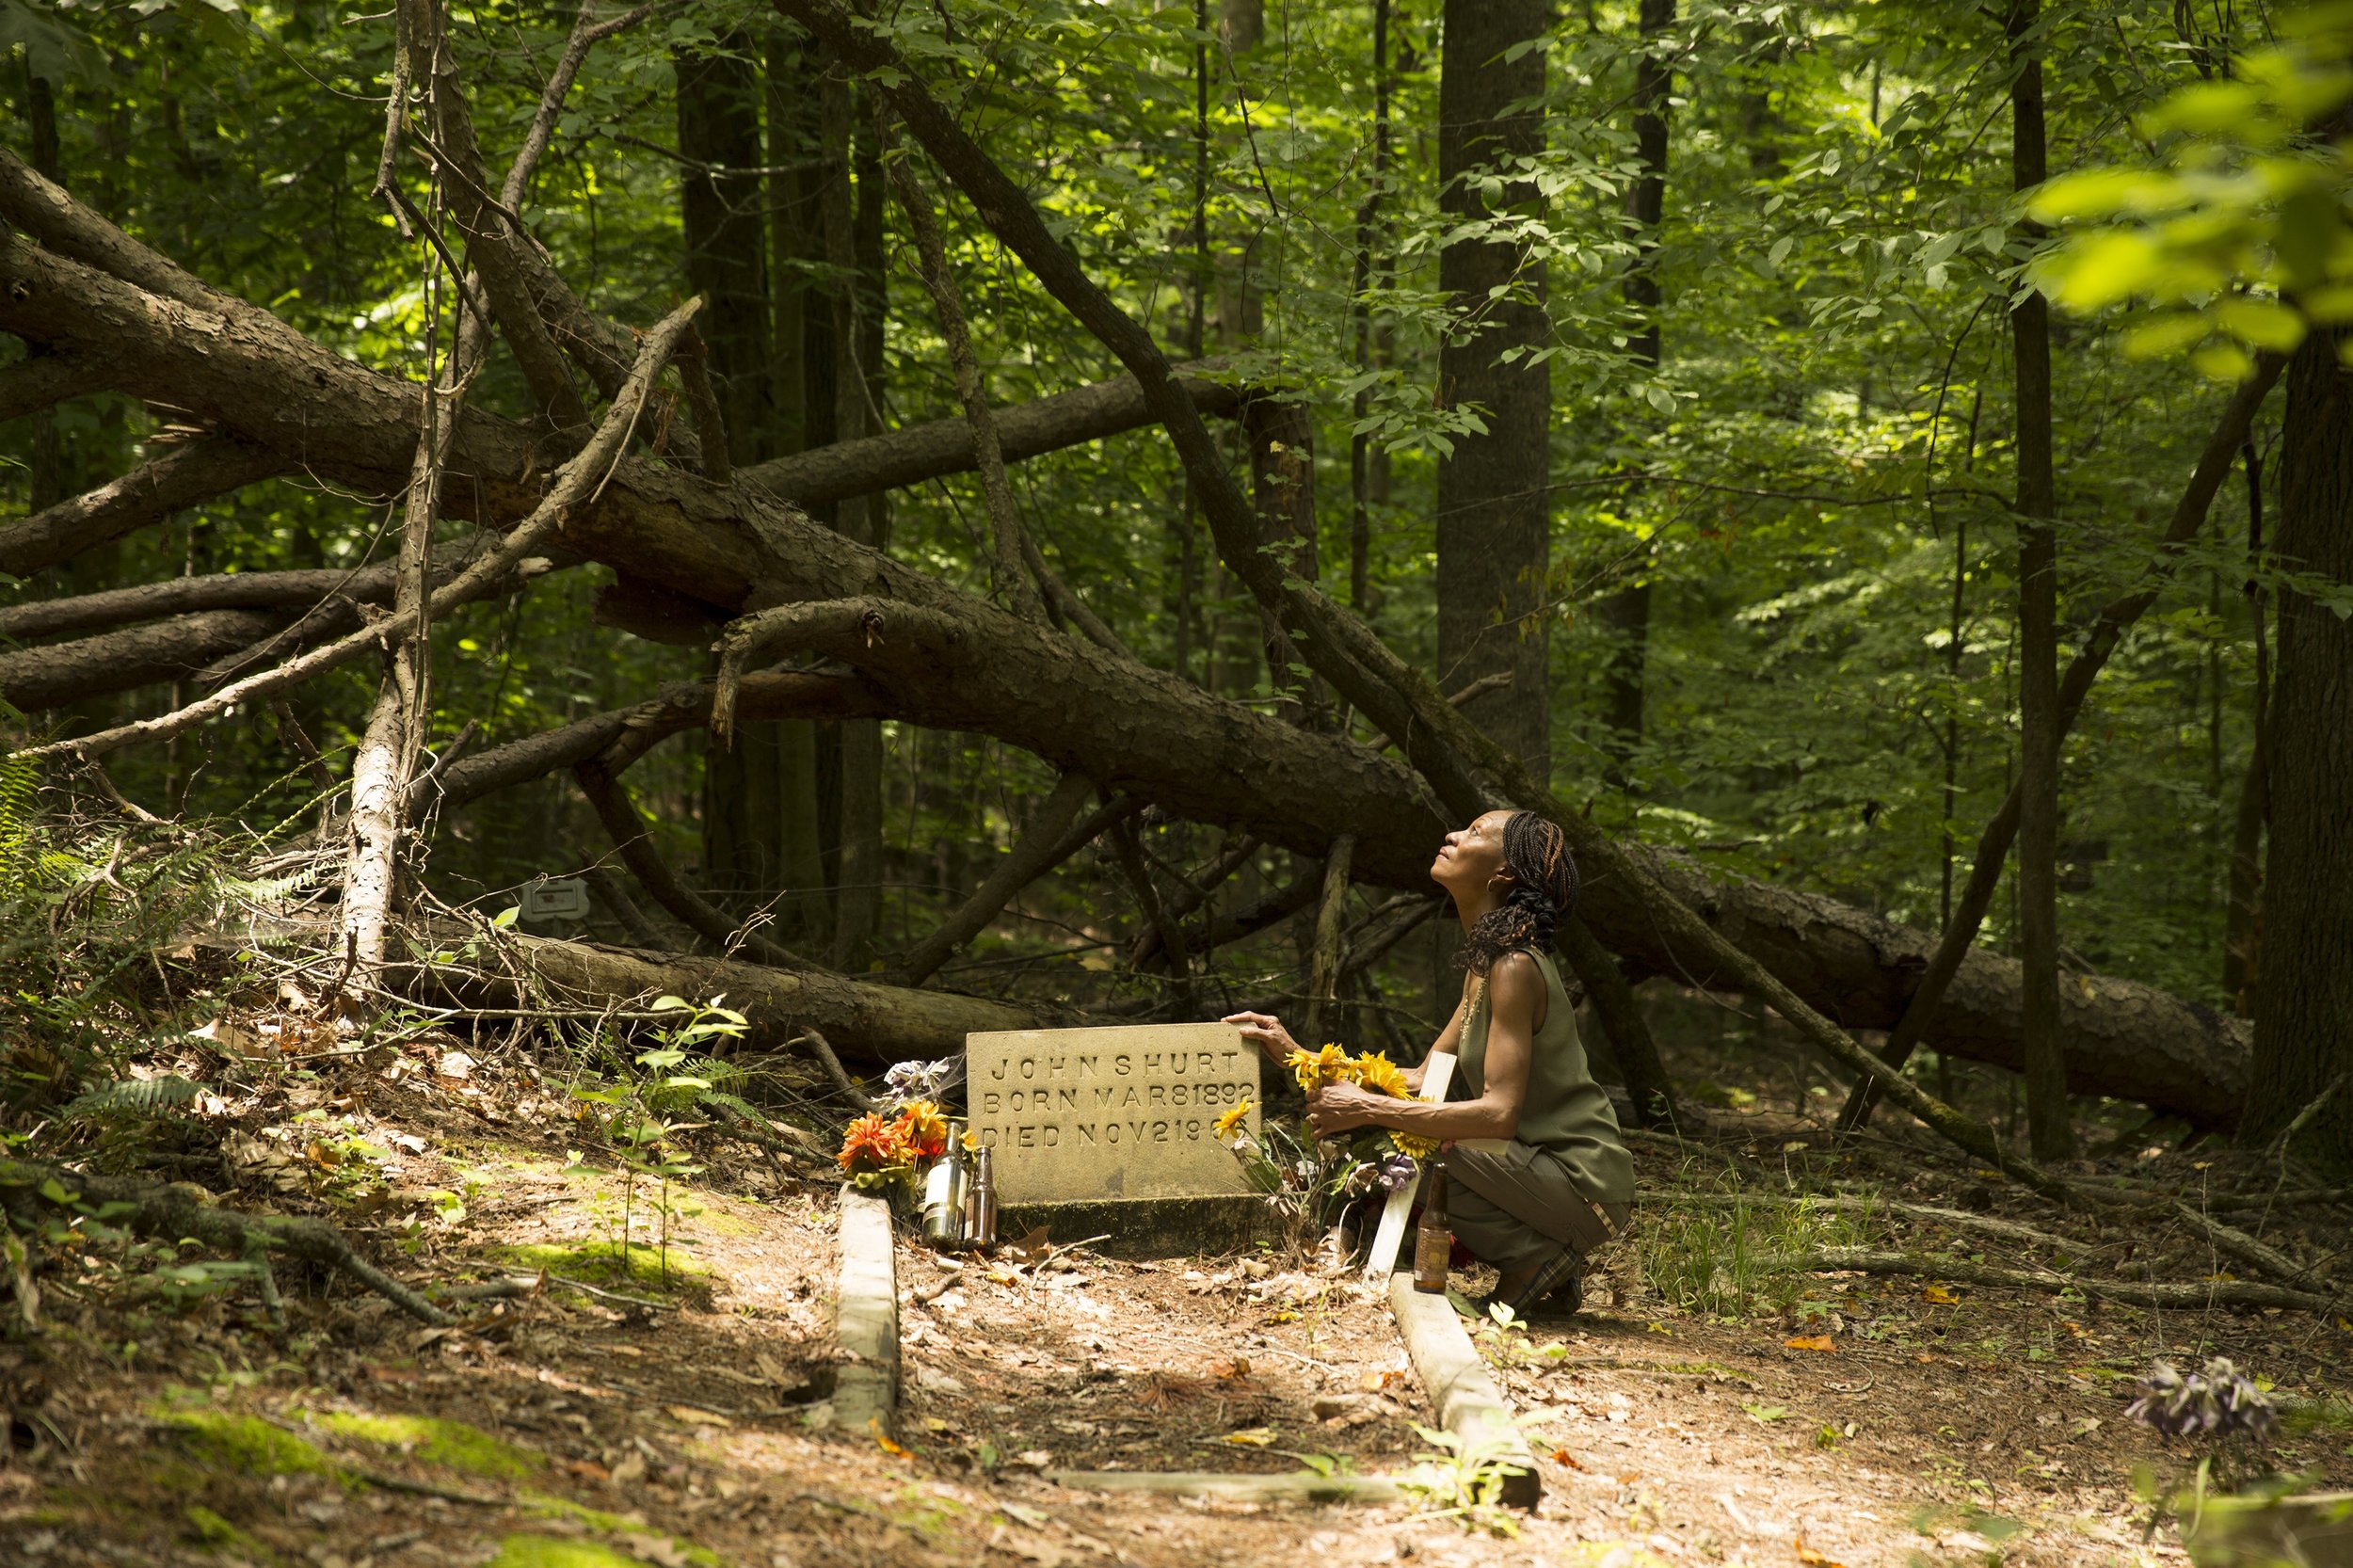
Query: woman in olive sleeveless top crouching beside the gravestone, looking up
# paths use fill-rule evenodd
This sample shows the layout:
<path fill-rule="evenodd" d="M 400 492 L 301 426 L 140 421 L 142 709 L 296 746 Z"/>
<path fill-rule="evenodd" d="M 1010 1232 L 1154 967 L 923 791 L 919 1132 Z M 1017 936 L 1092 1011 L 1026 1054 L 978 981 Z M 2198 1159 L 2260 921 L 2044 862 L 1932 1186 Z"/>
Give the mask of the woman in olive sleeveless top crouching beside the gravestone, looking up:
<path fill-rule="evenodd" d="M 1501 1274 L 1494 1300 L 1527 1311 L 1581 1302 L 1584 1260 L 1631 1215 L 1633 1161 L 1586 1067 L 1553 928 L 1577 902 L 1565 833 L 1534 812 L 1487 812 L 1447 833 L 1431 876 L 1464 923 L 1464 996 L 1431 1055 L 1454 1057 L 1452 1099 L 1409 1104 L 1332 1083 L 1308 1097 L 1318 1137 L 1398 1128 L 1452 1144 L 1457 1241 Z M 1264 1012 L 1226 1019 L 1278 1064 L 1297 1048 Z M 1407 1083 L 1421 1092 L 1417 1067 Z"/>

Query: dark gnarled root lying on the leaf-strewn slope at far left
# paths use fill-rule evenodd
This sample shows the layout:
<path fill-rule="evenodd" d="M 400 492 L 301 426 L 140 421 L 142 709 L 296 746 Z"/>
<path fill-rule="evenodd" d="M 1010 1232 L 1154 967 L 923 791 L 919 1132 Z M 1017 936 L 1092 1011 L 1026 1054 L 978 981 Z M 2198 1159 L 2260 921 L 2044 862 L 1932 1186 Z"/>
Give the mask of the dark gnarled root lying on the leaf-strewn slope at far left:
<path fill-rule="evenodd" d="M 47 1191 L 45 1191 L 47 1189 Z M 64 1191 L 64 1203 L 52 1196 Z M 155 1182 L 129 1182 L 122 1177 L 89 1175 L 45 1165 L 38 1161 L 0 1161 L 0 1208 L 19 1217 L 38 1217 L 42 1205 L 71 1208 L 75 1201 L 92 1205 L 122 1205 L 125 1212 L 108 1220 L 139 1236 L 160 1241 L 195 1238 L 216 1253 L 259 1260 L 268 1250 L 301 1257 L 339 1274 L 348 1274 L 386 1302 L 409 1314 L 419 1323 L 456 1323 L 447 1311 L 416 1295 L 398 1278 L 360 1257 L 351 1241 L 325 1220 L 289 1215 L 240 1215 L 238 1210 L 207 1203 L 202 1189 L 188 1184 L 162 1187 Z M 285 1302 L 275 1302 L 275 1278 L 264 1271 L 264 1307 L 273 1321 L 285 1318 Z"/>

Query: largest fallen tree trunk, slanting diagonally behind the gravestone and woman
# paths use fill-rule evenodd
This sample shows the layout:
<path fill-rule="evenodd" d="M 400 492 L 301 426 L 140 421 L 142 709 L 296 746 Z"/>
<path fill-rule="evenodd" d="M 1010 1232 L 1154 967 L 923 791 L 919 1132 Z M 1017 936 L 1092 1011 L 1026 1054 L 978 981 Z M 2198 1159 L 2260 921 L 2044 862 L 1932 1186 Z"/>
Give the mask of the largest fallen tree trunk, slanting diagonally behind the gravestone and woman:
<path fill-rule="evenodd" d="M 9 165 L 0 151 L 0 217 L 26 224 L 12 207 L 26 181 Z M 132 245 L 82 210 L 35 205 L 33 217 L 87 254 L 122 259 Z M 82 356 L 125 391 L 198 407 L 221 428 L 346 487 L 388 494 L 405 480 L 416 419 L 412 386 L 308 344 L 266 315 L 256 320 L 252 306 L 198 292 L 160 259 L 132 254 L 120 271 L 158 278 L 174 292 L 151 294 L 125 275 L 14 242 L 0 254 L 0 330 Z M 452 509 L 471 506 L 485 523 L 513 523 L 539 499 L 541 464 L 529 433 L 489 414 L 468 412 L 452 473 L 459 476 L 449 485 Z M 1447 824 L 1405 765 L 1021 622 L 751 485 L 718 487 L 626 459 L 602 504 L 567 523 L 560 542 L 694 607 L 685 636 L 708 636 L 706 614 L 833 600 L 812 605 L 802 647 L 856 669 L 875 702 L 904 720 L 993 735 L 1085 772 L 1106 791 L 1315 859 L 1346 831 L 1358 841 L 1360 881 L 1428 885 L 1428 859 Z M 1847 1026 L 1894 1024 L 1932 949 L 1929 935 L 1835 899 L 1708 878 L 1657 855 L 1649 864 L 1800 998 Z M 1692 956 L 1661 942 L 1631 888 L 1595 878 L 1584 916 L 1614 951 L 1666 975 L 1689 975 Z M 2198 1125 L 2235 1116 L 2247 1052 L 2235 1019 L 2134 982 L 2085 986 L 2066 1008 L 2078 1090 L 2129 1095 Z M 1934 1048 L 2014 1062 L 2014 965 L 1972 956 L 1939 1017 Z"/>

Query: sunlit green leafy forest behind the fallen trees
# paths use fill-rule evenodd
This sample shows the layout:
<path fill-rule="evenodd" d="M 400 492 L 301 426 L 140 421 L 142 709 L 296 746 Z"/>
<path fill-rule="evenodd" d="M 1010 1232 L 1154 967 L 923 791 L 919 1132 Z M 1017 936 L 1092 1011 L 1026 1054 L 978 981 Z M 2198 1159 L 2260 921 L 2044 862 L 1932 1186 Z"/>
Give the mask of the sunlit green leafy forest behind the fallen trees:
<path fill-rule="evenodd" d="M 1285 570 L 1449 690 L 1473 687 L 1464 711 L 1602 829 L 1937 930 L 1979 824 L 2019 779 L 2035 664 L 2019 518 L 2040 509 L 2021 499 L 2033 410 L 2012 313 L 2045 231 L 2019 200 L 2019 80 L 2033 61 L 2052 174 L 2146 162 L 2137 118 L 2228 82 L 2273 19 L 1447 9 L 1024 0 L 896 16 L 889 40 L 960 82 L 965 129 L 1172 358 L 1212 360 L 1205 405 L 1240 414 L 1212 428 Z M 7 144 L 78 202 L 358 363 L 421 377 L 447 353 L 440 254 L 369 200 L 388 19 L 9 0 L 0 24 L 16 45 Z M 449 14 L 496 162 L 525 139 L 572 26 L 541 5 Z M 1482 94 L 1497 139 L 1449 148 L 1445 92 Z M 600 40 L 553 122 L 527 228 L 600 315 L 642 327 L 706 299 L 729 461 L 748 469 L 962 414 L 925 224 L 894 165 L 939 198 L 925 221 L 988 403 L 1120 374 L 878 94 L 769 7 L 656 5 Z M 393 184 L 424 202 L 431 170 L 402 158 Z M 2212 344 L 2200 360 L 2148 356 L 2129 294 L 2049 318 L 2049 450 L 2033 461 L 2049 466 L 2071 638 L 2155 558 L 2249 365 Z M 468 403 L 539 410 L 504 351 Z M 687 424 L 682 405 L 654 417 Z M 2264 551 L 2280 419 L 2278 396 L 2254 412 L 2207 527 L 2066 735 L 2047 850 L 2064 970 L 2235 1015 L 2254 1012 L 2264 977 L 2266 617 L 2282 589 L 2313 591 Z M 0 426 L 0 494 L 40 516 L 188 436 L 155 396 L 64 400 Z M 1155 431 L 1007 473 L 1042 563 L 1146 664 L 1308 730 L 1377 737 L 1268 633 Z M 809 513 L 951 584 L 1033 593 L 995 570 L 981 476 Z M 398 504 L 289 473 L 5 593 L 31 605 L 351 570 L 388 563 L 398 537 Z M 553 570 L 438 619 L 424 753 L 482 753 L 711 673 L 708 638 L 614 636 L 633 614 L 661 619 L 626 598 L 602 570 Z M 1047 607 L 1066 619 L 1052 593 Z M 200 695 L 198 671 L 174 673 L 94 695 L 68 683 L 38 704 L 9 692 L 42 735 L 75 735 Z M 376 695 L 374 664 L 348 664 L 108 770 L 162 815 L 294 829 L 348 770 Z M 732 746 L 687 732 L 628 775 L 668 864 L 847 972 L 904 965 L 1040 800 L 1068 822 L 1078 803 L 1054 786 L 1016 746 L 896 718 L 746 723 Z M 539 876 L 612 859 L 562 770 L 447 810 L 426 841 L 424 885 L 485 913 Z M 1351 935 L 1393 944 L 1348 970 L 1315 1026 L 1419 1043 L 1445 1010 L 1452 939 L 1421 923 L 1426 904 L 1339 881 Z M 1311 857 L 1127 817 L 939 979 L 1134 1017 L 1306 1005 L 1322 885 Z M 628 935 L 602 904 L 591 930 Z M 1984 944 L 2017 954 L 2021 930 L 2005 878 Z"/>

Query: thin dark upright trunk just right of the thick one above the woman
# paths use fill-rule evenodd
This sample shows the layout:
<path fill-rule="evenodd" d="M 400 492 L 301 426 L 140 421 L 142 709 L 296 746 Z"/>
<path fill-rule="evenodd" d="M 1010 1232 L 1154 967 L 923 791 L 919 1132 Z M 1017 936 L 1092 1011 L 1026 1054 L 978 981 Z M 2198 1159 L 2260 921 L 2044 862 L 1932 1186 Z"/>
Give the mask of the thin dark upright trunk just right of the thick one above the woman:
<path fill-rule="evenodd" d="M 1649 374 L 1659 372 L 1666 341 L 1659 330 L 1659 221 L 1666 217 L 1666 97 L 1673 71 L 1666 59 L 1666 31 L 1675 26 L 1675 0 L 1642 0 L 1638 26 L 1642 54 L 1633 61 L 1633 148 L 1640 172 L 1628 191 L 1626 217 L 1633 224 L 1635 261 L 1626 271 L 1626 306 L 1635 318 L 1628 353 Z M 1609 664 L 1602 671 L 1602 753 L 1607 777 L 1628 784 L 1633 756 L 1642 746 L 1642 697 L 1649 669 L 1649 591 L 1652 546 L 1642 546 L 1626 574 L 1633 579 L 1602 600 L 1600 617 L 1609 626 Z"/>

